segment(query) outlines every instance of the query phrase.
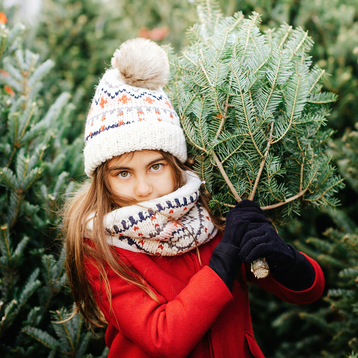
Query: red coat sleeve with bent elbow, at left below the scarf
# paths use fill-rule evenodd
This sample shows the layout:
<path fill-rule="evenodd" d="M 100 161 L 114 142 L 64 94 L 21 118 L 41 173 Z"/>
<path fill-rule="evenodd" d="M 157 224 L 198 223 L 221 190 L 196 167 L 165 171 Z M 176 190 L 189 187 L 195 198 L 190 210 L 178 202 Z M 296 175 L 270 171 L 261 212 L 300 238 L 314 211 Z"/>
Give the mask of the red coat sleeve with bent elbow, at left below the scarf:
<path fill-rule="evenodd" d="M 109 270 L 110 311 L 106 290 L 103 283 L 101 286 L 96 267 L 89 261 L 86 267 L 88 280 L 106 319 L 154 357 L 186 357 L 233 301 L 224 282 L 208 266 L 199 270 L 169 302 L 154 292 L 159 303 Z"/>

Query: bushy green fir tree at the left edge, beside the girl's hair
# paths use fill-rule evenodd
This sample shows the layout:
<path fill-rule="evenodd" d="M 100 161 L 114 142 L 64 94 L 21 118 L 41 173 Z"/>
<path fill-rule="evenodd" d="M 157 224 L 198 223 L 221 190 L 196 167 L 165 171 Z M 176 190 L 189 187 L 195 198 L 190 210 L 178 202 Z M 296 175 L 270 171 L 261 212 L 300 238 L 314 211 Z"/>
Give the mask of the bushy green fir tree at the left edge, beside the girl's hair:
<path fill-rule="evenodd" d="M 54 63 L 21 48 L 23 25 L 8 29 L 2 13 L 0 20 L 1 357 L 47 356 L 49 348 L 51 357 L 82 357 L 94 335 L 81 317 L 50 323 L 67 318 L 62 305 L 72 306 L 65 251 L 55 240 L 56 211 L 83 170 L 76 159 L 82 141 L 66 140 L 74 105 L 64 92 L 40 114 L 41 80 Z"/>

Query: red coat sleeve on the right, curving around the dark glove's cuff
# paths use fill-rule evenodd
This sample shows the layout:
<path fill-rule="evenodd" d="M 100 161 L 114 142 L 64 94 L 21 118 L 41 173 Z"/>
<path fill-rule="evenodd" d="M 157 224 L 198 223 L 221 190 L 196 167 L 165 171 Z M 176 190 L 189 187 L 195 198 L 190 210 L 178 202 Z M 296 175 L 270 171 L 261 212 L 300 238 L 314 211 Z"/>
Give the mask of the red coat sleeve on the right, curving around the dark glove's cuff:
<path fill-rule="evenodd" d="M 315 272 L 314 282 L 312 286 L 306 290 L 292 291 L 290 289 L 287 289 L 285 286 L 279 284 L 279 282 L 277 282 L 271 274 L 269 274 L 269 276 L 267 276 L 265 279 L 256 279 L 255 276 L 253 276 L 253 274 L 251 274 L 250 272 L 250 274 L 247 276 L 248 281 L 262 287 L 268 292 L 275 294 L 277 297 L 279 297 L 285 302 L 298 305 L 312 303 L 318 300 L 323 294 L 324 276 L 322 269 L 320 268 L 318 263 L 307 255 L 305 256 L 313 266 Z"/>

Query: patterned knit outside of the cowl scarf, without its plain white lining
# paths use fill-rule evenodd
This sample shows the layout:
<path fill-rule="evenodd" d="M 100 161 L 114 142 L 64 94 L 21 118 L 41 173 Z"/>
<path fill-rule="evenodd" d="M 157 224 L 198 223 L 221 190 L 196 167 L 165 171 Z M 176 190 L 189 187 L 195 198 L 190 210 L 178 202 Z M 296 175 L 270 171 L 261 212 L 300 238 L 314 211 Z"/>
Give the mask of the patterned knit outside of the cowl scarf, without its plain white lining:
<path fill-rule="evenodd" d="M 139 211 L 120 219 L 106 227 L 107 242 L 123 247 L 119 245 L 120 241 L 126 243 L 127 250 L 136 249 L 131 251 L 151 255 L 174 256 L 192 250 L 195 248 L 194 238 L 197 245 L 201 245 L 209 240 L 214 230 L 208 212 L 194 199 L 197 195 L 198 192 L 190 198 L 167 200 L 156 204 L 153 210 Z M 177 221 L 166 216 L 178 216 L 178 213 L 181 217 Z"/>

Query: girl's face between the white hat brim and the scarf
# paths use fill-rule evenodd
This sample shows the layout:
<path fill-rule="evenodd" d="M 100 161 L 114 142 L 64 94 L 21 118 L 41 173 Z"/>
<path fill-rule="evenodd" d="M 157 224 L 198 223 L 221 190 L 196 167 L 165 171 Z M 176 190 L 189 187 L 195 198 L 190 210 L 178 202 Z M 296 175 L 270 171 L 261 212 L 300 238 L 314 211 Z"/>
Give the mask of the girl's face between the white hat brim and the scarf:
<path fill-rule="evenodd" d="M 163 155 L 138 150 L 110 160 L 108 179 L 115 195 L 137 202 L 156 199 L 174 191 L 173 173 Z"/>

